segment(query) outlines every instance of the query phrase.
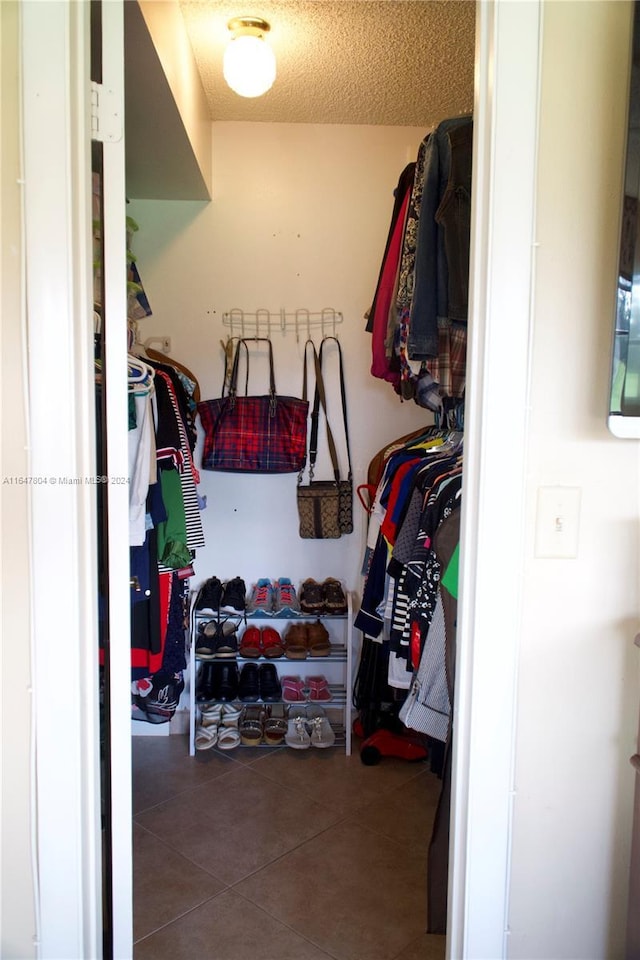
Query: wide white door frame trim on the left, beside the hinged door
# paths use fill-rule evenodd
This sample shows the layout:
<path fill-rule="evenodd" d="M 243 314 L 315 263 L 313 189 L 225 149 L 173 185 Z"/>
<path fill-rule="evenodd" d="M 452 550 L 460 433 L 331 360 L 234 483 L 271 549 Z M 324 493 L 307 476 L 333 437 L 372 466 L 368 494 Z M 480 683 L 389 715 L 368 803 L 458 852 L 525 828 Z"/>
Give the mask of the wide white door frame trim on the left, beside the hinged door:
<path fill-rule="evenodd" d="M 21 3 L 39 957 L 99 957 L 88 4 Z"/>

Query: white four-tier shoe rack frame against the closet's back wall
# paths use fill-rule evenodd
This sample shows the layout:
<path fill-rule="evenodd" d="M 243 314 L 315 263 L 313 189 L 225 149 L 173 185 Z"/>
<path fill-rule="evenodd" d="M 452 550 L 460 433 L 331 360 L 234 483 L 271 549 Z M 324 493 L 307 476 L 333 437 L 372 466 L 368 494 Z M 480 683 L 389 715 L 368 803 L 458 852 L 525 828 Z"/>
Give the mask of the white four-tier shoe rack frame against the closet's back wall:
<path fill-rule="evenodd" d="M 195 601 L 197 598 L 197 593 L 194 593 L 191 603 L 191 617 L 190 617 L 190 630 L 189 630 L 189 755 L 195 756 L 195 738 L 196 738 L 196 729 L 198 726 L 198 710 L 201 705 L 206 705 L 207 703 L 214 703 L 212 701 L 196 701 L 196 684 L 198 669 L 201 663 L 204 662 L 214 662 L 214 663 L 229 663 L 235 662 L 238 665 L 240 670 L 245 663 L 272 663 L 277 670 L 278 677 L 289 676 L 289 675 L 299 675 L 301 677 L 313 676 L 322 674 L 326 677 L 327 683 L 329 686 L 329 691 L 331 693 L 331 700 L 313 700 L 307 701 L 311 702 L 316 706 L 322 707 L 331 723 L 331 727 L 336 735 L 335 747 L 341 747 L 344 749 L 347 756 L 351 754 L 351 726 L 352 726 L 352 716 L 351 716 L 351 691 L 353 688 L 352 676 L 353 676 L 353 599 L 350 591 L 345 591 L 347 598 L 347 612 L 345 614 L 297 614 L 289 616 L 280 616 L 274 614 L 273 616 L 266 616 L 264 613 L 250 614 L 246 615 L 247 625 L 251 624 L 257 627 L 273 627 L 275 630 L 280 633 L 281 636 L 284 636 L 287 626 L 290 623 L 315 623 L 317 620 L 320 620 L 329 632 L 329 640 L 331 644 L 331 650 L 329 654 L 322 657 L 312 657 L 308 656 L 304 659 L 293 659 L 290 657 L 243 657 L 238 654 L 234 658 L 216 658 L 213 661 L 211 658 L 201 659 L 196 656 L 196 640 L 198 637 L 198 626 L 199 624 L 215 620 L 216 617 L 207 611 L 196 610 Z M 240 614 L 238 616 L 241 616 Z M 244 617 L 242 625 L 238 630 L 238 635 L 241 638 L 242 632 L 245 629 Z M 228 702 L 228 701 L 227 701 Z M 234 706 L 242 708 L 243 706 L 252 706 L 256 701 L 245 703 L 240 699 L 235 699 L 231 701 Z M 277 701 L 279 703 L 284 703 L 285 708 L 295 709 L 296 704 L 287 703 L 284 700 Z M 264 701 L 258 700 L 258 704 L 263 704 Z M 306 707 L 306 703 L 301 704 L 302 708 Z M 262 744 L 267 750 L 281 749 L 281 747 L 273 747 L 269 744 Z M 244 745 L 239 745 L 236 749 L 242 750 L 247 749 Z M 249 748 L 249 749 L 255 749 Z M 285 749 L 289 749 L 285 747 Z"/>

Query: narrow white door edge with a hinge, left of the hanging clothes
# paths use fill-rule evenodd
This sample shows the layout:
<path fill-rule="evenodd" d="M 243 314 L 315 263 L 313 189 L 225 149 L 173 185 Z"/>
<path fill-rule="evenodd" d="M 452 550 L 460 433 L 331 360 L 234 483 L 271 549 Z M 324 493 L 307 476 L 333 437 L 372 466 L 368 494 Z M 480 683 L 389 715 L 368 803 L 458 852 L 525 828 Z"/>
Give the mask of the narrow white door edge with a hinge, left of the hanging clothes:
<path fill-rule="evenodd" d="M 124 142 L 124 6 L 102 2 L 103 257 L 106 317 L 106 452 L 109 483 L 109 675 L 111 906 L 114 960 L 133 955 L 131 800 L 131 625 L 127 393 L 126 175 Z"/>

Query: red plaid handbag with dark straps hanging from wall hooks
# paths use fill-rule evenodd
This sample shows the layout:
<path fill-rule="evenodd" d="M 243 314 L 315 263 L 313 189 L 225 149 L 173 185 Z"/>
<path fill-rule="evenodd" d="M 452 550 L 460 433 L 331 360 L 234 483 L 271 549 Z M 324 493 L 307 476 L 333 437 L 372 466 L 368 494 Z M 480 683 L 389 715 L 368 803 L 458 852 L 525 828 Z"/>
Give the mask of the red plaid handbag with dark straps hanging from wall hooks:
<path fill-rule="evenodd" d="M 258 341 L 269 345 L 269 393 L 256 397 L 238 396 L 240 349 L 244 345 L 247 351 L 248 384 L 249 346 Z M 225 383 L 226 374 L 225 365 Z M 305 461 L 309 404 L 297 397 L 277 395 L 271 341 L 266 337 L 239 340 L 226 396 L 225 383 L 222 396 L 198 404 L 205 435 L 203 469 L 234 473 L 298 473 Z"/>

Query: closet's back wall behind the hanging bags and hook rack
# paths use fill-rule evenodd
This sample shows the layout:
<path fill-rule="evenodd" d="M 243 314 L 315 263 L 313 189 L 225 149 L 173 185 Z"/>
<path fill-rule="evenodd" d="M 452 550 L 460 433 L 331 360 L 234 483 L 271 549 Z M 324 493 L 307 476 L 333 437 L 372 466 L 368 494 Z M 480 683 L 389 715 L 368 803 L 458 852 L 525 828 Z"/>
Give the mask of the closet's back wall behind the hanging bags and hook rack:
<path fill-rule="evenodd" d="M 140 337 L 170 335 L 173 356 L 196 374 L 203 398 L 220 393 L 225 311 L 334 307 L 343 313 L 336 329 L 347 368 L 356 483 L 366 479 L 369 461 L 384 443 L 432 422 L 428 411 L 401 403 L 388 384 L 370 376 L 371 337 L 363 318 L 384 251 L 393 190 L 425 132 L 216 123 L 211 204 L 129 205 L 140 226 L 135 252 L 153 309 L 140 323 Z M 304 336 L 296 343 L 291 332 L 275 332 L 272 340 L 278 391 L 300 396 Z M 262 363 L 252 366 L 250 385 L 257 392 L 265 392 L 265 377 Z M 335 402 L 335 390 L 333 396 Z M 301 540 L 295 474 L 201 476 L 207 547 L 198 551 L 197 581 L 216 574 L 242 576 L 247 585 L 280 576 L 299 583 L 333 575 L 359 586 L 365 514 L 357 501 L 352 535 Z M 329 474 L 316 472 L 323 476 Z"/>

